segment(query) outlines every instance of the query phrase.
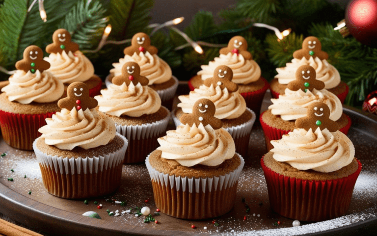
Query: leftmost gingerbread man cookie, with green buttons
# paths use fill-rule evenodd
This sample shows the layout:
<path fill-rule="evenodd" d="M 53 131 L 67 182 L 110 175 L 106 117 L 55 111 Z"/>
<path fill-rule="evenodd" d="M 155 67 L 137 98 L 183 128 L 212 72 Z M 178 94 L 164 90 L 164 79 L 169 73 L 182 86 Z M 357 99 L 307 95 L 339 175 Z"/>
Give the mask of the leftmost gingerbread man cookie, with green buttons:
<path fill-rule="evenodd" d="M 35 73 L 43 72 L 50 68 L 50 63 L 43 60 L 43 51 L 38 46 L 31 45 L 24 50 L 24 59 L 16 62 L 16 69 Z"/>

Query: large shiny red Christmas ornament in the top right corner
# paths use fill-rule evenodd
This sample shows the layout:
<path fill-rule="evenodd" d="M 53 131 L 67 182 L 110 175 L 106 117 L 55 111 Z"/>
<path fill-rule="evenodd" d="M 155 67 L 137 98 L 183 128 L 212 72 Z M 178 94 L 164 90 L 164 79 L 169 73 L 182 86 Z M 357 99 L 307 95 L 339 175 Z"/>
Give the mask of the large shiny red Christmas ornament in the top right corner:
<path fill-rule="evenodd" d="M 346 26 L 350 34 L 369 47 L 377 47 L 377 1 L 351 0 L 346 8 Z"/>

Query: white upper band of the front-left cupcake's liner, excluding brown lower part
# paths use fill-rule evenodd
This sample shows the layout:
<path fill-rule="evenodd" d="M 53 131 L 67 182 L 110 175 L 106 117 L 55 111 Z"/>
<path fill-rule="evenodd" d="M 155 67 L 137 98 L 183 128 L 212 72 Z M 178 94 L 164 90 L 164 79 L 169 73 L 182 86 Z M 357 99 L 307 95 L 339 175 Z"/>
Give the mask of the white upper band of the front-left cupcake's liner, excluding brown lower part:
<path fill-rule="evenodd" d="M 44 167 L 54 169 L 56 173 L 58 172 L 57 169 L 59 168 L 61 174 L 68 174 L 71 172 L 71 174 L 74 175 L 76 174 L 75 170 L 77 170 L 77 174 L 80 175 L 81 166 L 84 172 L 83 174 L 87 174 L 87 170 L 90 174 L 98 173 L 99 171 L 102 172 L 104 168 L 107 170 L 108 168 L 114 168 L 115 166 L 123 164 L 124 155 L 128 147 L 128 141 L 124 136 L 118 133 L 116 135 L 123 139 L 123 147 L 114 153 L 99 157 L 68 158 L 48 155 L 41 152 L 37 148 L 36 143 L 39 138 L 35 139 L 33 142 L 33 149 L 38 162 Z"/>

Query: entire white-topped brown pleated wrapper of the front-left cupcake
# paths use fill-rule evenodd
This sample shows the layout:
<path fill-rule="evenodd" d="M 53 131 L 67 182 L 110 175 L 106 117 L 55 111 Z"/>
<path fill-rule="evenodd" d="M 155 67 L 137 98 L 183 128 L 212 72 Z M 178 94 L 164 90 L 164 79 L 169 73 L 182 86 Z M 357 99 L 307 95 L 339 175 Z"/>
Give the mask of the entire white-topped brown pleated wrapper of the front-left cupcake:
<path fill-rule="evenodd" d="M 46 190 L 61 198 L 87 198 L 106 195 L 115 191 L 122 177 L 122 163 L 128 142 L 115 153 L 104 157 L 63 158 L 47 155 L 33 148 Z"/>

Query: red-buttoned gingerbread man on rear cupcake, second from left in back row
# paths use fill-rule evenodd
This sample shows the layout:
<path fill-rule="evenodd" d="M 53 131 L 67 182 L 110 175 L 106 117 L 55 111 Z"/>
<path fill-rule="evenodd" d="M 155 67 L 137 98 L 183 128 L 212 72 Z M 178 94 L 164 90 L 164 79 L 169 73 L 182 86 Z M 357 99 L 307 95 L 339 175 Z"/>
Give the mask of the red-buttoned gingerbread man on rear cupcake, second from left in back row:
<path fill-rule="evenodd" d="M 132 37 L 131 46 L 123 50 L 125 55 L 132 56 L 135 52 L 149 52 L 151 55 L 157 54 L 158 50 L 151 45 L 151 39 L 146 33 L 137 33 Z"/>

